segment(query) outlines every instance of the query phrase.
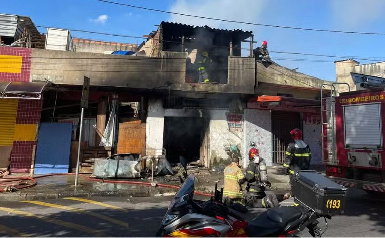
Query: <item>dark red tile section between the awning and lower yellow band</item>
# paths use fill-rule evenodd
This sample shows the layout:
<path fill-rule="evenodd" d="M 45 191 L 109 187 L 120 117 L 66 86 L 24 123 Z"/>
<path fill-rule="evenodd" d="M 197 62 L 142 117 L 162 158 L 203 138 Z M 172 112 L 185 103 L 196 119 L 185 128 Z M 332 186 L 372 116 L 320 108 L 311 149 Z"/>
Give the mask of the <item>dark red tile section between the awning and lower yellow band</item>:
<path fill-rule="evenodd" d="M 17 124 L 36 124 L 40 121 L 42 99 L 19 99 L 17 107 Z"/>

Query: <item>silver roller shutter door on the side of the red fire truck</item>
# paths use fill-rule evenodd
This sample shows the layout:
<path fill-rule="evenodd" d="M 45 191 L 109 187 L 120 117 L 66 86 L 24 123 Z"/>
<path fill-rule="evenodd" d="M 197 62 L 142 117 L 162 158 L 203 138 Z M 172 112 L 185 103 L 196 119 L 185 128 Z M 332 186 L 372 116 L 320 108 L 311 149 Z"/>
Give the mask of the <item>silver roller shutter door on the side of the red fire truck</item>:
<path fill-rule="evenodd" d="M 382 147 L 381 104 L 344 106 L 345 146 L 348 148 Z"/>

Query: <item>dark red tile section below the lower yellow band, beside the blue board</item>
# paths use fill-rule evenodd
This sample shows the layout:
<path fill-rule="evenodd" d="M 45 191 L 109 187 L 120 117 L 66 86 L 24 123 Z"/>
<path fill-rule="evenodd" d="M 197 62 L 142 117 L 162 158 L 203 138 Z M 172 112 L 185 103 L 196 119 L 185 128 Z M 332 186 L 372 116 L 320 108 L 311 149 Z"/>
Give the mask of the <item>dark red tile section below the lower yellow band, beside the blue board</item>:
<path fill-rule="evenodd" d="M 11 154 L 11 172 L 29 173 L 32 164 L 34 141 L 14 141 Z"/>

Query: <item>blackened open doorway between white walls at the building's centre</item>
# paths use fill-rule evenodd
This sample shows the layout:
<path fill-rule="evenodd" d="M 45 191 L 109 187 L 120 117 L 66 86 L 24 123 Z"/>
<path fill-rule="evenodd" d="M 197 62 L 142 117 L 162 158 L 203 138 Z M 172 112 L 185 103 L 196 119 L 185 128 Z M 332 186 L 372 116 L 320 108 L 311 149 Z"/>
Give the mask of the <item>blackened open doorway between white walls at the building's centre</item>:
<path fill-rule="evenodd" d="M 163 148 L 171 164 L 179 162 L 179 156 L 188 162 L 204 159 L 207 155 L 207 120 L 202 117 L 165 117 Z M 201 161 L 204 164 L 204 161 Z"/>

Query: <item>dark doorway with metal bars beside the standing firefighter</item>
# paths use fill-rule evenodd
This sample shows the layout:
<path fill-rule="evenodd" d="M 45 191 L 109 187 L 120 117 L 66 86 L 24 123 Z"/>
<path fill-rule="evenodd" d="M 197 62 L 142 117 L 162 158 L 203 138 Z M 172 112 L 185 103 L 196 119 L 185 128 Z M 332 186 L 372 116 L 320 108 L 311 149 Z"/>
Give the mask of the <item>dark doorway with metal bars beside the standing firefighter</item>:
<path fill-rule="evenodd" d="M 289 132 L 301 129 L 300 115 L 297 112 L 272 112 L 272 163 L 283 164 L 286 147 L 292 141 Z"/>

